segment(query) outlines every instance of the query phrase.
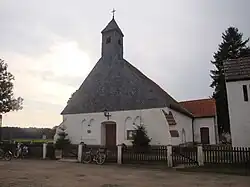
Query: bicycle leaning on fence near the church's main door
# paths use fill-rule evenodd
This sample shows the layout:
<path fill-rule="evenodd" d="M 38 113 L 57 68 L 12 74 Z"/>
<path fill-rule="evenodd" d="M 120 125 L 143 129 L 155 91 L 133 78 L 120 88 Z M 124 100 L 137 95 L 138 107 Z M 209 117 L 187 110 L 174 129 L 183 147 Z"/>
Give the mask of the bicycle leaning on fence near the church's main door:
<path fill-rule="evenodd" d="M 104 164 L 107 158 L 106 148 L 99 148 L 96 153 L 93 153 L 92 148 L 89 151 L 85 152 L 82 156 L 82 162 L 89 164 L 91 162 L 96 162 L 98 165 Z"/>

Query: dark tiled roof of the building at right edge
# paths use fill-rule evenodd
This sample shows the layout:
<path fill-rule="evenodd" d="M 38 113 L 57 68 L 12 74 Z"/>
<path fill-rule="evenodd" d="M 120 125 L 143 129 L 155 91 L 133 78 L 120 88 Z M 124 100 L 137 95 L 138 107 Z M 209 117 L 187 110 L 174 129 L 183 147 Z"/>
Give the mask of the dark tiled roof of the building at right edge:
<path fill-rule="evenodd" d="M 225 62 L 224 71 L 227 82 L 250 80 L 250 57 Z"/>

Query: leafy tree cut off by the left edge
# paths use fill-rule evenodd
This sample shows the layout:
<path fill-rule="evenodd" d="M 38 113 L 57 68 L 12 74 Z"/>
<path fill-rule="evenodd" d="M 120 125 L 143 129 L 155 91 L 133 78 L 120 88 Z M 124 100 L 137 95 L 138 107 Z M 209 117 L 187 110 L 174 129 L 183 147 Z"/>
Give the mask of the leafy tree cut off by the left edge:
<path fill-rule="evenodd" d="M 22 109 L 23 99 L 14 97 L 13 80 L 14 76 L 8 72 L 8 65 L 0 59 L 0 115 Z M 2 139 L 1 134 L 0 127 L 0 140 Z"/>

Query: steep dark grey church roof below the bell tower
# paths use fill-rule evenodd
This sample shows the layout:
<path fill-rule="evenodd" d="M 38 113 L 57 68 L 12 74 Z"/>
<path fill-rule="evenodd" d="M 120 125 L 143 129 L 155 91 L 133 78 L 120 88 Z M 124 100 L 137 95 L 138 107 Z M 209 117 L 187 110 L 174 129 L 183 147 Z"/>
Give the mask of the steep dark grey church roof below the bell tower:
<path fill-rule="evenodd" d="M 183 108 L 160 86 L 124 59 L 100 59 L 62 114 L 78 114 L 169 107 L 187 116 Z"/>

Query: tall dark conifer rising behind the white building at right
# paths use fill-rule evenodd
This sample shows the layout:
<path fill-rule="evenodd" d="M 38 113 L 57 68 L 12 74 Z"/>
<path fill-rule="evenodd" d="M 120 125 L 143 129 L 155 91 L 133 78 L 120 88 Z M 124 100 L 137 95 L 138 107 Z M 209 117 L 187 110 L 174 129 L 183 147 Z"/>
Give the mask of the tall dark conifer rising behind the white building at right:
<path fill-rule="evenodd" d="M 219 49 L 214 53 L 211 63 L 215 66 L 210 71 L 213 79 L 211 87 L 214 88 L 213 98 L 216 100 L 219 133 L 230 132 L 228 102 L 225 84 L 223 63 L 228 59 L 235 59 L 249 55 L 247 47 L 249 39 L 243 40 L 243 34 L 237 28 L 229 27 L 222 33 L 222 42 Z"/>

